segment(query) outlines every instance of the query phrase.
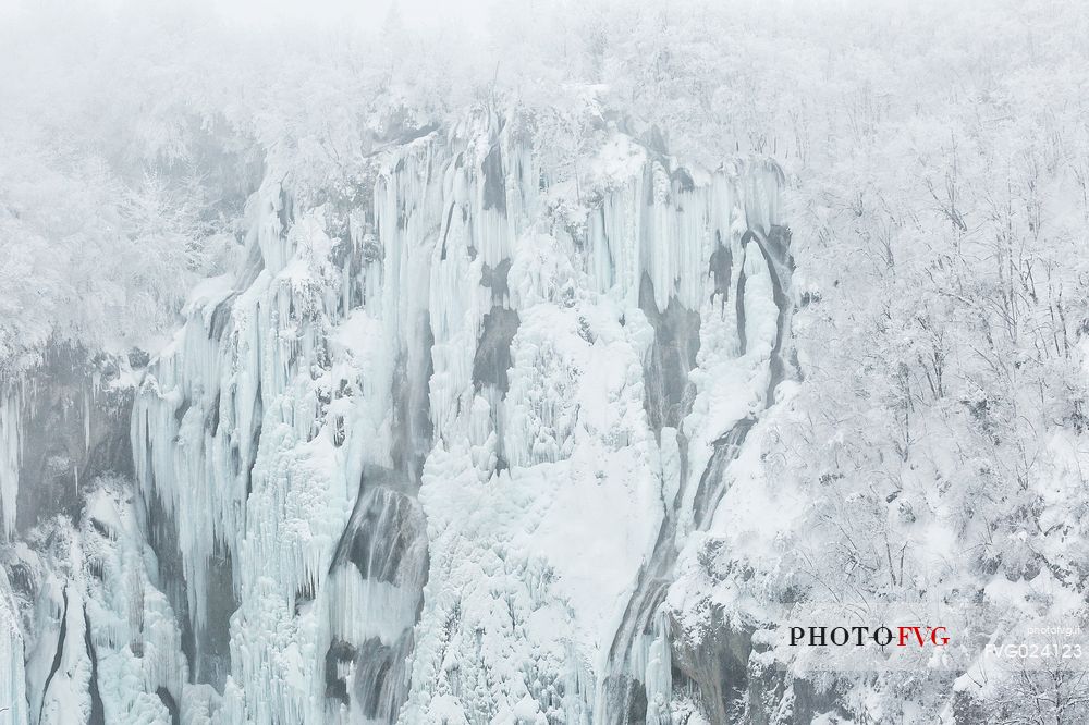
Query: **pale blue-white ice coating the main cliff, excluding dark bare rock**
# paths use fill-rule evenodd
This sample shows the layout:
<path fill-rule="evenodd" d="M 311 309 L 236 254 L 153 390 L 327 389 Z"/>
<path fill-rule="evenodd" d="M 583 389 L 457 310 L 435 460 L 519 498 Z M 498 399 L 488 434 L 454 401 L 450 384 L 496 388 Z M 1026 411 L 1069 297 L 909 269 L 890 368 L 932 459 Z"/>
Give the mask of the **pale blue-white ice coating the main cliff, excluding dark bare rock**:
<path fill-rule="evenodd" d="M 749 277 L 746 355 L 731 316 L 700 332 L 685 422 L 697 466 L 763 405 L 778 310 L 763 257 L 745 254 L 741 235 L 746 216 L 778 219 L 766 167 L 689 185 L 614 135 L 592 164 L 602 200 L 580 245 L 542 223 L 530 152 L 500 128 L 479 114 L 446 140 L 390 152 L 372 219 L 350 214 L 347 239 L 329 236 L 328 207 L 299 207 L 266 181 L 248 236 L 264 263 L 197 287 L 184 329 L 148 368 L 133 416 L 137 480 L 178 527 L 195 629 L 224 616 L 201 594 L 208 562 L 223 548 L 233 563 L 240 606 L 219 710 L 229 722 L 329 717 L 331 643 L 377 638 L 397 651 L 408 632 L 412 688 L 394 690 L 407 699 L 404 722 L 591 716 L 615 629 L 681 489 L 676 431 L 662 431 L 660 450 L 644 407 L 654 339 L 639 309 L 644 273 L 658 312 L 675 297 L 714 317 L 712 244 L 745 260 L 733 282 L 742 269 Z M 352 280 L 333 261 L 344 245 L 348 259 L 377 245 L 380 259 Z M 516 314 L 505 390 L 477 351 L 494 309 Z M 417 389 L 433 437 L 418 493 L 401 467 L 420 433 L 390 417 L 400 401 L 418 409 Z M 413 506 L 426 554 L 409 544 L 393 578 L 374 578 L 377 560 L 360 569 L 334 558 L 351 537 L 390 540 L 404 520 L 394 512 Z M 354 508 L 377 528 L 350 537 L 365 531 L 350 524 Z M 423 545 L 425 532 L 408 531 Z M 668 640 L 645 647 L 636 675 L 666 717 Z M 348 710 L 359 706 L 355 688 L 378 687 L 363 664 L 337 673 Z"/>

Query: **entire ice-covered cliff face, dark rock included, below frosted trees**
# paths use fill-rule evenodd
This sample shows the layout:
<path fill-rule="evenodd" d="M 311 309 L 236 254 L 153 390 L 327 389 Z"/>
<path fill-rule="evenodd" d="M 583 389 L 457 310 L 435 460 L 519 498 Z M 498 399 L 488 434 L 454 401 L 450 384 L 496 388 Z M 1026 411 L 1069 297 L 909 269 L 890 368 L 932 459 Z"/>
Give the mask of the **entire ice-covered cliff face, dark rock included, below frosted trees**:
<path fill-rule="evenodd" d="M 402 136 L 320 204 L 269 168 L 246 267 L 194 292 L 134 398 L 23 389 L 9 530 L 50 553 L 8 562 L 32 624 L 4 646 L 42 653 L 0 680 L 26 683 L 16 722 L 744 706 L 749 634 L 697 646 L 666 600 L 796 374 L 781 173 L 617 133 L 576 191 L 514 120 Z"/>

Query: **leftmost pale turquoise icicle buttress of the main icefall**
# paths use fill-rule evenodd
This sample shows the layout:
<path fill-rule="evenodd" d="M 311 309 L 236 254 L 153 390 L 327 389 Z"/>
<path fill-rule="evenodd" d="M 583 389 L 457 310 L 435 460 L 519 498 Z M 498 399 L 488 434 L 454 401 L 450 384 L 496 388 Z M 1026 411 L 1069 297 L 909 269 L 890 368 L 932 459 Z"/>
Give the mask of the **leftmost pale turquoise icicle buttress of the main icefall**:
<path fill-rule="evenodd" d="M 297 660 L 301 647 L 317 647 L 303 629 L 318 625 L 294 607 L 321 590 L 355 494 L 354 464 L 325 427 L 355 380 L 330 369 L 343 278 L 320 213 L 295 219 L 272 182 L 255 195 L 250 266 L 194 296 L 133 416 L 137 479 L 159 502 L 149 526 L 168 532 L 160 557 L 180 562 L 192 677 L 227 695 L 228 720 L 321 717 L 315 669 Z M 294 649 L 273 649 L 261 631 Z"/>

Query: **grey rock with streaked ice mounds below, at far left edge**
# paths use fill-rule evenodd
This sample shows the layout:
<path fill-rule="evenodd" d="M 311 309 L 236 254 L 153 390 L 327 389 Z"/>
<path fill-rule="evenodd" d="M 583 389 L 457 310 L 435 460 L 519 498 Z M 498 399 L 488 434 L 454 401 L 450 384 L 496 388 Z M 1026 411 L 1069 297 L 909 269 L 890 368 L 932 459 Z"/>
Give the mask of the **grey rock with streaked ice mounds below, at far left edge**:
<path fill-rule="evenodd" d="M 126 480 L 134 380 L 54 343 L 5 388 L 0 722 L 171 722 L 186 677 Z"/>

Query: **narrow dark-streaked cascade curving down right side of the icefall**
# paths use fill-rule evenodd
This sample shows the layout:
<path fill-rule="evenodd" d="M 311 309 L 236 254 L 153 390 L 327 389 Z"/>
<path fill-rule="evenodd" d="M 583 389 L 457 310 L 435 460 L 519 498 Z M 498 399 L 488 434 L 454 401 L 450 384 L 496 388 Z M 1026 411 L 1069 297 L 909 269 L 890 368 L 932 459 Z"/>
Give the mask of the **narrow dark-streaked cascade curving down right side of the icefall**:
<path fill-rule="evenodd" d="M 736 246 L 722 246 L 721 232 L 715 232 L 715 249 L 709 260 L 709 277 L 714 278 L 714 283 L 707 298 L 712 309 L 702 315 L 689 312 L 680 304 L 678 297 L 671 299 L 663 316 L 652 278 L 646 274 L 643 280 L 640 306 L 656 333 L 651 353 L 646 358 L 648 415 L 660 434 L 669 430 L 662 426 L 676 427 L 671 439 L 678 445 L 681 465 L 674 484 L 663 480 L 663 494 L 672 495 L 672 501 L 666 500 L 658 540 L 649 560 L 640 567 L 635 592 L 609 651 L 609 665 L 596 705 L 600 722 L 670 722 L 668 710 L 663 709 L 668 708 L 670 686 L 664 687 L 666 692 L 663 693 L 661 665 L 648 669 L 646 663 L 648 660 L 660 662 L 663 642 L 668 641 L 669 627 L 661 607 L 673 581 L 677 556 L 687 534 L 702 530 L 710 523 L 729 482 L 729 463 L 739 453 L 759 410 L 774 403 L 778 384 L 793 374 L 796 367 L 784 360 L 784 356 L 788 357 L 790 312 L 793 309 L 790 298 L 790 274 L 793 270 L 790 232 L 778 224 L 775 197 L 764 194 L 759 184 L 749 191 L 756 198 L 771 202 L 758 205 L 749 201 L 746 205 L 746 229 Z M 736 280 L 726 284 L 733 272 L 734 259 L 739 260 Z M 725 318 L 725 303 L 731 290 L 734 291 L 736 309 L 732 336 L 739 357 L 734 360 L 715 359 L 718 356 L 706 355 L 709 352 L 707 343 L 714 344 L 720 340 L 721 321 Z M 718 295 L 722 298 L 719 315 L 715 315 L 713 304 Z M 768 304 L 769 297 L 773 305 Z M 674 304 L 677 305 L 675 310 L 671 309 Z M 702 311 L 701 307 L 696 309 Z M 769 315 L 771 311 L 774 311 L 774 317 Z M 750 320 L 750 316 L 755 319 Z M 701 356 L 694 347 L 705 355 Z M 742 382 L 737 373 L 746 368 L 756 374 L 745 381 L 748 390 L 744 392 L 736 385 Z M 705 377 L 712 371 L 718 379 Z M 762 390 L 760 382 L 764 383 Z M 758 386 L 754 388 L 754 383 Z M 733 389 L 722 390 L 725 385 Z M 720 397 L 726 391 L 733 395 L 741 393 L 741 400 L 733 395 L 733 400 Z M 708 429 L 708 421 L 703 418 L 706 413 L 711 411 L 718 416 L 733 413 L 732 421 L 712 417 L 712 427 Z M 729 428 L 723 430 L 723 423 Z M 710 457 L 699 469 L 693 464 L 699 463 L 707 454 L 707 432 L 714 430 L 723 432 L 710 442 Z M 695 447 L 689 445 L 689 439 Z M 664 647 L 668 649 L 668 646 Z M 703 698 L 705 709 L 712 714 L 712 722 L 722 722 L 725 713 L 721 711 L 718 698 L 708 695 L 705 693 Z"/>

